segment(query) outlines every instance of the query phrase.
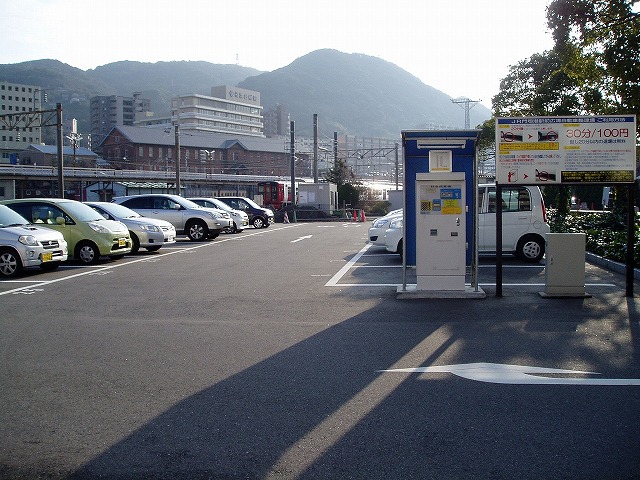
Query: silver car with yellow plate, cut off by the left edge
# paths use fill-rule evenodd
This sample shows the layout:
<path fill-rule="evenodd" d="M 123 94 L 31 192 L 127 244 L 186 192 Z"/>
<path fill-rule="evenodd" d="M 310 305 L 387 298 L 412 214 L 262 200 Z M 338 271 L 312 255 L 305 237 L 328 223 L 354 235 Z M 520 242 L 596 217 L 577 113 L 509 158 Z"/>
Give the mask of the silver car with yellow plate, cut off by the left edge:
<path fill-rule="evenodd" d="M 60 232 L 32 225 L 0 205 L 0 277 L 14 277 L 27 267 L 55 270 L 67 256 L 67 242 Z"/>

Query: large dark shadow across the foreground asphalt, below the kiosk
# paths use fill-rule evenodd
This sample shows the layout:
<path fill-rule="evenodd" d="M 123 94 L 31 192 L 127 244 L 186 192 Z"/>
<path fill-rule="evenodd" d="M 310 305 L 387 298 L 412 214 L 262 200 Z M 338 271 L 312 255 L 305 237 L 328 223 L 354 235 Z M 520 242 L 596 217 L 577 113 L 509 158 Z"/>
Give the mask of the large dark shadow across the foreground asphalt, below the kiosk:
<path fill-rule="evenodd" d="M 380 372 L 582 359 L 640 376 L 632 314 L 624 299 L 386 298 L 178 403 L 70 478 L 632 478 L 638 387 Z M 622 320 L 607 339 L 577 333 L 598 318 Z"/>

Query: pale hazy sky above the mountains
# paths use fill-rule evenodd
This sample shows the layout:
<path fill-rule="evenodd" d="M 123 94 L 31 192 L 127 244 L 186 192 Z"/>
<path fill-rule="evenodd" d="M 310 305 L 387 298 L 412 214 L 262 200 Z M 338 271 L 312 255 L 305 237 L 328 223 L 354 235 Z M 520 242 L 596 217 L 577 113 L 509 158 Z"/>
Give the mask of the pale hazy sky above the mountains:
<path fill-rule="evenodd" d="M 550 1 L 0 0 L 0 64 L 204 60 L 271 71 L 333 48 L 490 107 L 510 65 L 552 47 Z"/>

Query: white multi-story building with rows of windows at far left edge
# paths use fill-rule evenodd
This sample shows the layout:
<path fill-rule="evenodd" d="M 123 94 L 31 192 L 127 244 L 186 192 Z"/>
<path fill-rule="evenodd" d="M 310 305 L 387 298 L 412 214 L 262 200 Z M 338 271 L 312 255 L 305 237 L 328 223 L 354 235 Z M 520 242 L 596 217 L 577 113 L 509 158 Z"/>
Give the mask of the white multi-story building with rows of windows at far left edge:
<path fill-rule="evenodd" d="M 11 163 L 16 154 L 28 145 L 41 143 L 39 118 L 27 115 L 22 119 L 10 114 L 35 112 L 41 109 L 42 89 L 37 85 L 0 82 L 0 163 Z"/>

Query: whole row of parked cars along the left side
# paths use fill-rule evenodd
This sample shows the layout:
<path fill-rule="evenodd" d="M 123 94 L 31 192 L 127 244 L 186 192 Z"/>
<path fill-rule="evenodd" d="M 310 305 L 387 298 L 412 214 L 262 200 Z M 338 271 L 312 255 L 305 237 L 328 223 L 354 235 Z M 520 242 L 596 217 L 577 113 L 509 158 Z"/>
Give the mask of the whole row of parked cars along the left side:
<path fill-rule="evenodd" d="M 265 228 L 273 212 L 243 197 L 223 199 L 141 194 L 113 202 L 27 198 L 0 202 L 0 277 L 39 266 L 53 270 L 67 259 L 82 264 L 119 259 L 141 248 L 150 252 L 176 242 L 214 239 L 241 232 L 250 223 Z M 232 206 L 239 207 L 234 209 Z"/>

